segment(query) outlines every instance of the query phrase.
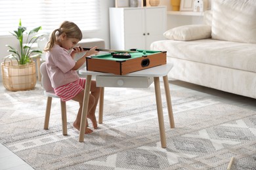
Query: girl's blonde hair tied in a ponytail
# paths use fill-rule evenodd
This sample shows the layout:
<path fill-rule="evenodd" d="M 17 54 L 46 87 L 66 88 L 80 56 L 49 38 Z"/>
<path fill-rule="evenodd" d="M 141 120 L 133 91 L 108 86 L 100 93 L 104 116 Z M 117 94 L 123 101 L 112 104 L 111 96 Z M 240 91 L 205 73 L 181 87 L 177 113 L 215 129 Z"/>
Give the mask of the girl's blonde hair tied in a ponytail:
<path fill-rule="evenodd" d="M 60 37 L 63 33 L 66 33 L 68 38 L 75 38 L 81 41 L 83 35 L 79 27 L 74 24 L 74 22 L 62 22 L 58 29 L 55 29 L 53 33 L 51 33 L 51 37 L 49 42 L 47 42 L 47 46 L 45 47 L 45 51 L 51 50 L 53 48 L 54 43 L 57 41 L 57 38 Z"/>

